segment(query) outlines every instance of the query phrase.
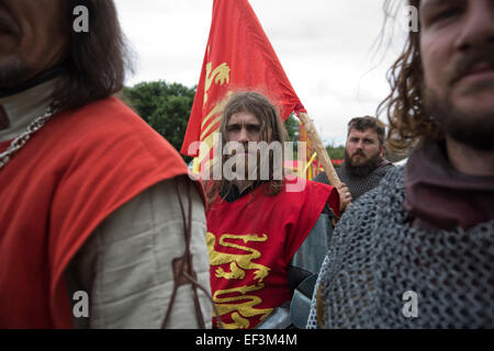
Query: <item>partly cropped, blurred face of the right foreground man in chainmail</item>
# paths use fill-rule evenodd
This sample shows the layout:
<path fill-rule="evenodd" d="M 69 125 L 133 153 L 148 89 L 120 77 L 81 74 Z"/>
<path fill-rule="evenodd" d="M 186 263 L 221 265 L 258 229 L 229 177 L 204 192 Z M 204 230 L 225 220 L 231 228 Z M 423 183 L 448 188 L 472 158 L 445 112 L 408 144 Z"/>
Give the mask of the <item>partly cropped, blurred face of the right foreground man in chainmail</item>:
<path fill-rule="evenodd" d="M 424 99 L 447 137 L 494 150 L 494 1 L 423 0 Z"/>

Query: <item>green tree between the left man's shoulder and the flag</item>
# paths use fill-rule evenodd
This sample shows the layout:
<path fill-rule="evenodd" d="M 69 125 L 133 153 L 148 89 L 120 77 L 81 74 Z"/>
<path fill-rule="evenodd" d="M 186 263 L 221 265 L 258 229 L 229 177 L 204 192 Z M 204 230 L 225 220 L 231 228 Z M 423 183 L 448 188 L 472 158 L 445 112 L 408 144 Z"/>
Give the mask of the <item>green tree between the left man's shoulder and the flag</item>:
<path fill-rule="evenodd" d="M 165 81 L 141 82 L 122 91 L 124 100 L 178 151 L 182 146 L 197 87 Z M 190 157 L 182 156 L 186 162 Z"/>

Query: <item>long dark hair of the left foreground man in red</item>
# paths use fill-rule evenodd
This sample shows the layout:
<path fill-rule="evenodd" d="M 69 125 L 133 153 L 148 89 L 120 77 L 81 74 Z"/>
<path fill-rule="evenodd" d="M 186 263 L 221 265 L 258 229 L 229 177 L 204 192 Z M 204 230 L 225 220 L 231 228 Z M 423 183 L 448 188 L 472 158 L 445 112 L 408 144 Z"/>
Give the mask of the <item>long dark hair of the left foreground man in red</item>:
<path fill-rule="evenodd" d="M 77 109 L 120 91 L 132 66 L 113 0 L 68 0 L 65 5 L 69 43 L 64 73 L 52 95 L 58 110 Z M 89 11 L 88 33 L 72 29 L 78 5 Z"/>

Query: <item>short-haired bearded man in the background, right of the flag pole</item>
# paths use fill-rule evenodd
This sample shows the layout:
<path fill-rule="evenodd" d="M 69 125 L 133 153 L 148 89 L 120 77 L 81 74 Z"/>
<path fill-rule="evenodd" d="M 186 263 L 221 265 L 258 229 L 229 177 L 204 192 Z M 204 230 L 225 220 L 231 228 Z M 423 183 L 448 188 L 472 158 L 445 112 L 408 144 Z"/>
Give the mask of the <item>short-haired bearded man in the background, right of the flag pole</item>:
<path fill-rule="evenodd" d="M 355 117 L 348 123 L 345 162 L 336 170 L 339 179 L 348 186 L 341 192 L 341 203 L 356 201 L 374 189 L 381 179 L 394 168 L 383 159 L 384 125 L 375 117 Z M 326 173 L 321 172 L 316 182 L 329 184 Z"/>

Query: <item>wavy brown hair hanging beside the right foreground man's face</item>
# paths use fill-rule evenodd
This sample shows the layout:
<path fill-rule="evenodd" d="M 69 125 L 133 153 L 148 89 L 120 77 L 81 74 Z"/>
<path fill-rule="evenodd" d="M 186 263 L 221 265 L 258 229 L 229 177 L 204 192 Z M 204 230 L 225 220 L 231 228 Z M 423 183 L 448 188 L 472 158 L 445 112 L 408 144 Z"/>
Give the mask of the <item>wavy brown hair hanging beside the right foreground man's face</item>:
<path fill-rule="evenodd" d="M 385 1 L 385 12 L 394 0 Z M 420 0 L 408 0 L 417 10 Z M 378 114 L 386 112 L 389 118 L 388 146 L 396 154 L 404 154 L 425 139 L 439 139 L 442 134 L 431 116 L 424 111 L 424 70 L 420 59 L 420 24 L 418 31 L 408 32 L 402 55 L 388 71 L 391 93 L 378 107 Z"/>

